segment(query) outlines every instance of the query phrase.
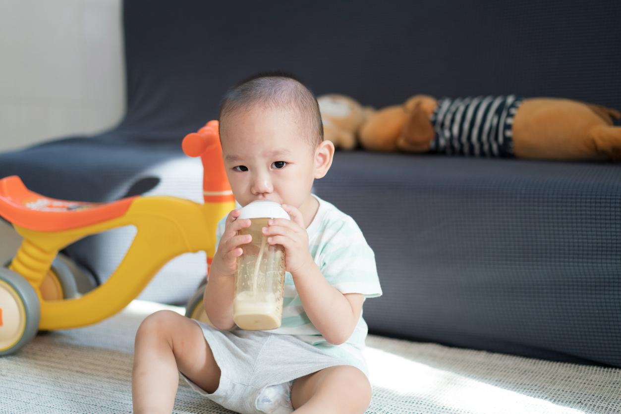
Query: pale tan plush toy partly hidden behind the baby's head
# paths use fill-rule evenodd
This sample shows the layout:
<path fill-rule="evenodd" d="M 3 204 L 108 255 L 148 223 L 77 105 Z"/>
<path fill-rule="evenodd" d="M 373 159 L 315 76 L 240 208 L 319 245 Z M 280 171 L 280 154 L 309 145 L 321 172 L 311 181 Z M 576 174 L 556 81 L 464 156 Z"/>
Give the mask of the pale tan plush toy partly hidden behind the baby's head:
<path fill-rule="evenodd" d="M 358 129 L 373 114 L 373 108 L 363 107 L 355 99 L 339 94 L 322 95 L 317 102 L 324 124 L 324 139 L 342 150 L 355 148 Z"/>

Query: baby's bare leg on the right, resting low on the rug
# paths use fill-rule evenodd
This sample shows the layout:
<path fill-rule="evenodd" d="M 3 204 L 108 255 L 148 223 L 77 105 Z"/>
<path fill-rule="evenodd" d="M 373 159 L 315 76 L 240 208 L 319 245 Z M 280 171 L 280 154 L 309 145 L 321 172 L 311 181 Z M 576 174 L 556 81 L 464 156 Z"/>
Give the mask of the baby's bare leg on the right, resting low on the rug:
<path fill-rule="evenodd" d="M 291 403 L 296 413 L 364 413 L 371 384 L 360 369 L 340 365 L 295 380 Z"/>

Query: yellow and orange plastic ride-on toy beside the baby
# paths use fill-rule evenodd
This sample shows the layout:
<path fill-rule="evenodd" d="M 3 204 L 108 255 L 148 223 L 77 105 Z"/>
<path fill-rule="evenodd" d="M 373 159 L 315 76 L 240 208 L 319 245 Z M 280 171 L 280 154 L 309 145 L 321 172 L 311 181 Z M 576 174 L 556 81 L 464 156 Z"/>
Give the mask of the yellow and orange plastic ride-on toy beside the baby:
<path fill-rule="evenodd" d="M 0 180 L 0 215 L 24 238 L 8 267 L 0 268 L 0 355 L 16 352 L 38 330 L 90 325 L 119 312 L 179 254 L 206 251 L 211 264 L 217 222 L 235 208 L 217 121 L 188 134 L 183 151 L 201 156 L 203 204 L 166 196 L 109 203 L 57 200 L 29 191 L 17 176 Z M 76 294 L 75 275 L 56 259 L 58 251 L 125 225 L 134 225 L 137 233 L 118 268 L 100 286 Z M 188 316 L 201 316 L 200 296 L 188 304 Z"/>

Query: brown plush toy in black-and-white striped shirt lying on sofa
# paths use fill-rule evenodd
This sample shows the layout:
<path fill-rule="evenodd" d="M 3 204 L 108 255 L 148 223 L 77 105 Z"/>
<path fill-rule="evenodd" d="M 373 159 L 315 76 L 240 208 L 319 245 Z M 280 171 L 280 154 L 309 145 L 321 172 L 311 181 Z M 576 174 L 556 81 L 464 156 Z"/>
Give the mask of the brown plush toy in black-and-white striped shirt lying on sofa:
<path fill-rule="evenodd" d="M 372 115 L 360 142 L 373 151 L 619 161 L 621 127 L 612 117 L 621 114 L 570 99 L 416 95 Z"/>

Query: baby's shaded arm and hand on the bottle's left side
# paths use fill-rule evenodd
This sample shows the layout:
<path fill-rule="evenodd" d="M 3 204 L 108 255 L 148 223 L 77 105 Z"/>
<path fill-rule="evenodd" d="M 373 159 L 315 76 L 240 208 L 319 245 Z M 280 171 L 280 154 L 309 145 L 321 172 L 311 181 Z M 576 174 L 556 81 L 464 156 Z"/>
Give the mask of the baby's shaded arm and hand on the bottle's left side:
<path fill-rule="evenodd" d="M 233 295 L 235 294 L 235 262 L 243 251 L 240 245 L 250 243 L 251 235 L 237 235 L 237 230 L 250 226 L 250 220 L 237 220 L 240 210 L 232 210 L 226 220 L 224 233 L 209 270 L 203 306 L 209 321 L 220 330 L 229 330 L 233 322 Z"/>

